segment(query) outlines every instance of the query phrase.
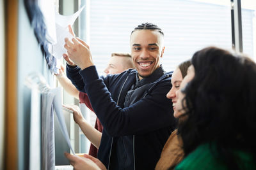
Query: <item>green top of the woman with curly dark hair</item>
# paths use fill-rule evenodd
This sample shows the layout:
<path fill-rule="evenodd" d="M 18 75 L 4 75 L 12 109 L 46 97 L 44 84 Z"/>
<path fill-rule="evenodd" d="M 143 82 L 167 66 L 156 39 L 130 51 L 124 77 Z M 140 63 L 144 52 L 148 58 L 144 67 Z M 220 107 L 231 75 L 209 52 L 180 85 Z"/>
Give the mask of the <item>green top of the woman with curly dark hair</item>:
<path fill-rule="evenodd" d="M 216 146 L 213 146 L 213 148 Z M 256 169 L 256 163 L 253 160 L 253 155 L 247 152 L 235 151 L 235 154 L 243 160 L 243 169 Z M 210 149 L 209 143 L 198 146 L 193 152 L 189 153 L 187 157 L 185 157 L 180 164 L 178 164 L 175 169 L 189 169 L 189 170 L 221 170 L 228 169 L 223 162 L 216 159 L 212 154 L 212 150 Z"/>

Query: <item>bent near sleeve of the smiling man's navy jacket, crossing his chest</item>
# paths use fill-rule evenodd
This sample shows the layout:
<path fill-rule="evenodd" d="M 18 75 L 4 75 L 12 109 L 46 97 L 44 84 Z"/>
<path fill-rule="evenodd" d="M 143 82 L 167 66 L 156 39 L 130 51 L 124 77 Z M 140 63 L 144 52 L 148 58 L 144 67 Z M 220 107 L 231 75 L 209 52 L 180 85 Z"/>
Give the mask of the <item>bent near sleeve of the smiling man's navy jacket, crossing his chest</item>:
<path fill-rule="evenodd" d="M 140 101 L 120 108 L 99 78 L 95 66 L 83 69 L 80 74 L 93 110 L 110 136 L 141 134 L 175 125 L 171 101 L 166 98 L 171 88 L 170 80 L 158 83 Z"/>

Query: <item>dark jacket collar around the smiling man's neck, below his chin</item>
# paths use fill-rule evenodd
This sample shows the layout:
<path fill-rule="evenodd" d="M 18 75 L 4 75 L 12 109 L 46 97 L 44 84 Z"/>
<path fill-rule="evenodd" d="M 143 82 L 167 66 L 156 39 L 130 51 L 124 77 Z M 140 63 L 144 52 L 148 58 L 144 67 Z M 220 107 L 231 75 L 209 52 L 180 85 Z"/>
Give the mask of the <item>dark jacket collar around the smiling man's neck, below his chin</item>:
<path fill-rule="evenodd" d="M 164 74 L 164 69 L 163 69 L 162 65 L 160 65 L 160 67 L 157 68 L 150 76 L 145 77 L 141 80 L 139 78 L 139 73 L 137 72 L 135 87 L 138 88 L 145 84 L 152 83 L 152 82 L 156 81 L 157 78 L 160 78 L 161 76 L 163 76 L 163 74 Z"/>

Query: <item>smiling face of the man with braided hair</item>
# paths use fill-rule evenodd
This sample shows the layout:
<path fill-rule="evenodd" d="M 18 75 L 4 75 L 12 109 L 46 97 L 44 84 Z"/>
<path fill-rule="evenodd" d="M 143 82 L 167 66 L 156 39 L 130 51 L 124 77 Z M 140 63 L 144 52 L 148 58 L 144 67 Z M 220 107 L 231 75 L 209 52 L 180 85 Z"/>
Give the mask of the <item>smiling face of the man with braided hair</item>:
<path fill-rule="evenodd" d="M 159 66 L 163 57 L 163 36 L 157 31 L 134 31 L 130 39 L 131 55 L 139 78 L 150 76 Z"/>

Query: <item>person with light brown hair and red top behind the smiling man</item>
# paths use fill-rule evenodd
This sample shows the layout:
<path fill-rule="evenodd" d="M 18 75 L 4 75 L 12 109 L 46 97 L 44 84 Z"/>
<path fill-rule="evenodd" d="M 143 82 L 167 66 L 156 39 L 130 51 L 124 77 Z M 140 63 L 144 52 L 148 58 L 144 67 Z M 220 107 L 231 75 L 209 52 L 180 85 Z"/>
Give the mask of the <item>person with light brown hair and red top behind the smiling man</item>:
<path fill-rule="evenodd" d="M 111 58 L 109 59 L 108 66 L 104 69 L 106 74 L 118 74 L 122 73 L 127 69 L 134 69 L 134 64 L 131 59 L 130 53 L 125 52 L 114 52 L 111 53 Z M 92 104 L 88 99 L 88 96 L 84 92 L 79 92 L 76 87 L 72 84 L 72 82 L 67 78 L 64 72 L 64 67 L 61 66 L 59 70 L 60 74 L 56 74 L 57 80 L 60 82 L 61 86 L 68 94 L 74 96 L 76 99 L 79 99 L 80 103 L 84 103 L 90 110 L 93 111 Z M 69 104 L 65 106 L 67 108 L 74 108 L 78 110 L 77 106 L 74 104 Z M 78 117 L 83 117 L 83 115 L 77 115 Z M 77 118 L 74 117 L 76 121 Z M 84 120 L 83 125 L 80 125 L 81 130 L 84 132 L 86 138 L 88 138 L 92 143 L 90 145 L 89 155 L 93 157 L 97 157 L 98 148 L 100 145 L 101 133 L 103 131 L 102 124 L 98 118 L 96 118 L 95 127 L 93 128 L 86 120 Z M 97 130 L 97 131 L 95 131 Z"/>

